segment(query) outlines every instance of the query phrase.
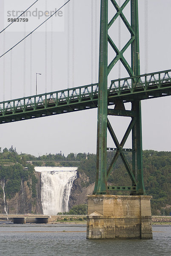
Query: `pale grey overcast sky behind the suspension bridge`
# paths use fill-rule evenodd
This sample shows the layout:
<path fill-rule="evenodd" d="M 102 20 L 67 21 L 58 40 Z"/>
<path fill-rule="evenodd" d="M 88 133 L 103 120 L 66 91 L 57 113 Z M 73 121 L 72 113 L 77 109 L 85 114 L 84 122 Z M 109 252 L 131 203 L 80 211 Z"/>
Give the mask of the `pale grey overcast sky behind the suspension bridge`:
<path fill-rule="evenodd" d="M 14 2 L 14 1 L 12 1 Z M 15 1 L 17 3 L 17 1 Z M 21 3 L 20 3 L 21 2 Z M 34 0 L 21 1 L 20 10 L 26 9 Z M 49 9 L 55 9 L 57 1 L 47 0 Z M 59 3 L 65 1 L 60 0 Z M 121 0 L 121 3 L 123 1 Z M 139 0 L 139 23 L 140 23 L 140 64 L 141 73 L 145 72 L 144 63 L 144 0 Z M 5 3 L 10 3 L 6 0 Z M 94 0 L 95 3 L 95 0 Z M 20 6 L 20 5 L 19 5 Z M 57 6 L 57 7 L 58 7 Z M 161 8 L 164 6 L 164 8 Z M 43 9 L 45 0 L 37 2 L 37 8 Z M 97 0 L 97 34 L 99 32 L 99 7 L 100 0 Z M 8 6 L 3 6 L 0 0 L 0 28 L 3 29 L 4 20 L 7 20 Z M 12 8 L 12 7 L 11 7 Z M 19 8 L 18 6 L 16 7 Z M 34 7 L 36 8 L 36 6 Z M 70 81 L 73 85 L 72 73 L 72 0 L 70 2 Z M 148 72 L 168 70 L 171 68 L 171 49 L 170 49 L 170 26 L 171 26 L 171 1 L 170 0 L 148 0 Z M 34 9 L 32 9 L 34 11 Z M 91 84 L 91 0 L 74 0 L 74 86 Z M 110 14 L 114 11 L 110 9 Z M 47 26 L 47 89 L 45 88 L 45 26 L 40 31 L 32 35 L 32 73 L 30 76 L 30 38 L 26 40 L 26 96 L 35 94 L 36 72 L 42 73 L 37 77 L 38 93 L 52 90 L 65 89 L 68 86 L 68 57 L 67 57 L 67 14 L 68 10 L 63 10 L 63 17 L 53 18 L 53 86 L 51 85 L 51 21 Z M 94 10 L 95 14 L 95 10 Z M 125 15 L 128 15 L 128 8 Z M 3 17 L 4 16 L 4 17 Z M 128 15 L 129 16 L 129 15 Z M 3 17 L 3 18 L 2 18 Z M 43 17 L 41 18 L 43 19 Z M 40 19 L 40 21 L 41 21 Z M 128 17 L 129 19 L 129 17 Z M 26 34 L 31 28 L 39 23 L 39 19 L 26 24 Z M 60 26 L 59 26 L 60 24 Z M 19 26 L 14 24 L 15 26 Z M 118 31 L 116 23 L 112 33 L 112 38 L 118 41 Z M 23 35 L 23 24 L 13 27 L 9 32 L 6 30 L 6 49 L 19 41 Z M 95 32 L 95 29 L 93 30 Z M 127 32 L 121 24 L 121 46 L 127 40 Z M 97 43 L 99 34 L 97 35 Z M 95 35 L 93 53 L 93 82 L 97 81 L 95 74 Z M 97 47 L 98 51 L 98 47 Z M 21 43 L 12 51 L 12 99 L 23 97 L 24 93 L 24 72 L 23 72 L 23 52 L 24 44 Z M 0 34 L 0 53 L 3 53 L 3 33 Z M 110 52 L 109 58 L 112 57 Z M 129 54 L 128 54 L 129 55 Z M 98 57 L 98 56 L 97 56 Z M 5 65 L 5 94 L 3 91 L 3 58 L 0 59 L 0 101 L 3 97 L 10 99 L 10 73 L 11 73 L 11 54 L 6 55 Z M 97 60 L 98 64 L 98 60 Z M 110 75 L 110 79 L 118 78 L 118 67 Z M 127 76 L 123 69 L 121 77 Z M 30 87 L 31 84 L 31 87 Z M 123 133 L 129 122 L 127 118 L 112 117 L 114 131 L 122 139 Z M 143 149 L 154 149 L 157 151 L 171 151 L 171 96 L 159 99 L 149 99 L 142 101 L 142 140 Z M 0 125 L 0 147 L 16 147 L 20 153 L 25 152 L 36 156 L 42 154 L 55 154 L 62 151 L 65 155 L 70 152 L 90 152 L 96 153 L 97 136 L 97 109 L 80 111 L 75 113 L 65 113 L 56 116 L 38 118 L 34 120 L 20 121 Z M 131 140 L 125 147 L 131 147 Z M 108 146 L 114 147 L 110 137 Z"/>

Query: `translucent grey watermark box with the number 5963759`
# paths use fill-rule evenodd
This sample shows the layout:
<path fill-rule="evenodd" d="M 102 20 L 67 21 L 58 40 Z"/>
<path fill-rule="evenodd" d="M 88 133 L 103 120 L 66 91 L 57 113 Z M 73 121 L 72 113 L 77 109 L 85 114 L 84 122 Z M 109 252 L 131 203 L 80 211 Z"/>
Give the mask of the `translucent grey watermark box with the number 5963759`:
<path fill-rule="evenodd" d="M 64 8 L 60 9 L 60 7 L 63 6 L 64 0 L 41 0 L 31 6 L 34 2 L 33 0 L 4 1 L 4 27 L 13 22 L 9 26 L 8 32 L 31 32 L 51 15 L 53 17 L 47 20 L 47 25 L 43 24 L 37 31 L 44 32 L 47 29 L 47 32 L 51 30 L 53 32 L 63 32 Z M 31 8 L 28 9 L 29 6 Z M 21 15 L 26 9 L 28 10 Z M 51 19 L 53 19 L 52 22 Z"/>

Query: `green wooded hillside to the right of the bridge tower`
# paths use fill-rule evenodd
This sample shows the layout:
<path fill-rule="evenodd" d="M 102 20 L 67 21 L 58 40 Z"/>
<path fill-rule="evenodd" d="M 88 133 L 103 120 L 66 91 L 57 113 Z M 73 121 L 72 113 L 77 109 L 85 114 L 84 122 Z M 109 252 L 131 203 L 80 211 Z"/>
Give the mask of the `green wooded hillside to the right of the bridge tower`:
<path fill-rule="evenodd" d="M 152 195 L 153 214 L 171 204 L 171 152 L 143 151 L 144 184 L 147 195 Z"/>

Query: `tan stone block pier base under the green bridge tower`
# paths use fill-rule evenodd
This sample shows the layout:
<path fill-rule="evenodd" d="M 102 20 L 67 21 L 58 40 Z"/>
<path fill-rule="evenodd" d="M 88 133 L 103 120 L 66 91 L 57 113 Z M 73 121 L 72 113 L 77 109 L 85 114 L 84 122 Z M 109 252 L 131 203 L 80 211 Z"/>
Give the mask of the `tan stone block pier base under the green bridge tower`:
<path fill-rule="evenodd" d="M 87 239 L 152 239 L 151 198 L 88 195 Z"/>

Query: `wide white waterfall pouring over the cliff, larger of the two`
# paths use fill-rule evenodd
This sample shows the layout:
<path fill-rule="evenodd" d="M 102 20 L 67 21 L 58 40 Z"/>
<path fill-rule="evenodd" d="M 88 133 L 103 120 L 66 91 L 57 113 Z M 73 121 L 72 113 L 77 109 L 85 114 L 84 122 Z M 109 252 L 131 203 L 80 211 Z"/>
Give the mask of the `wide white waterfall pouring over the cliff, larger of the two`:
<path fill-rule="evenodd" d="M 43 214 L 57 215 L 68 211 L 69 196 L 74 180 L 77 178 L 77 167 L 34 167 L 41 172 L 41 200 Z"/>

